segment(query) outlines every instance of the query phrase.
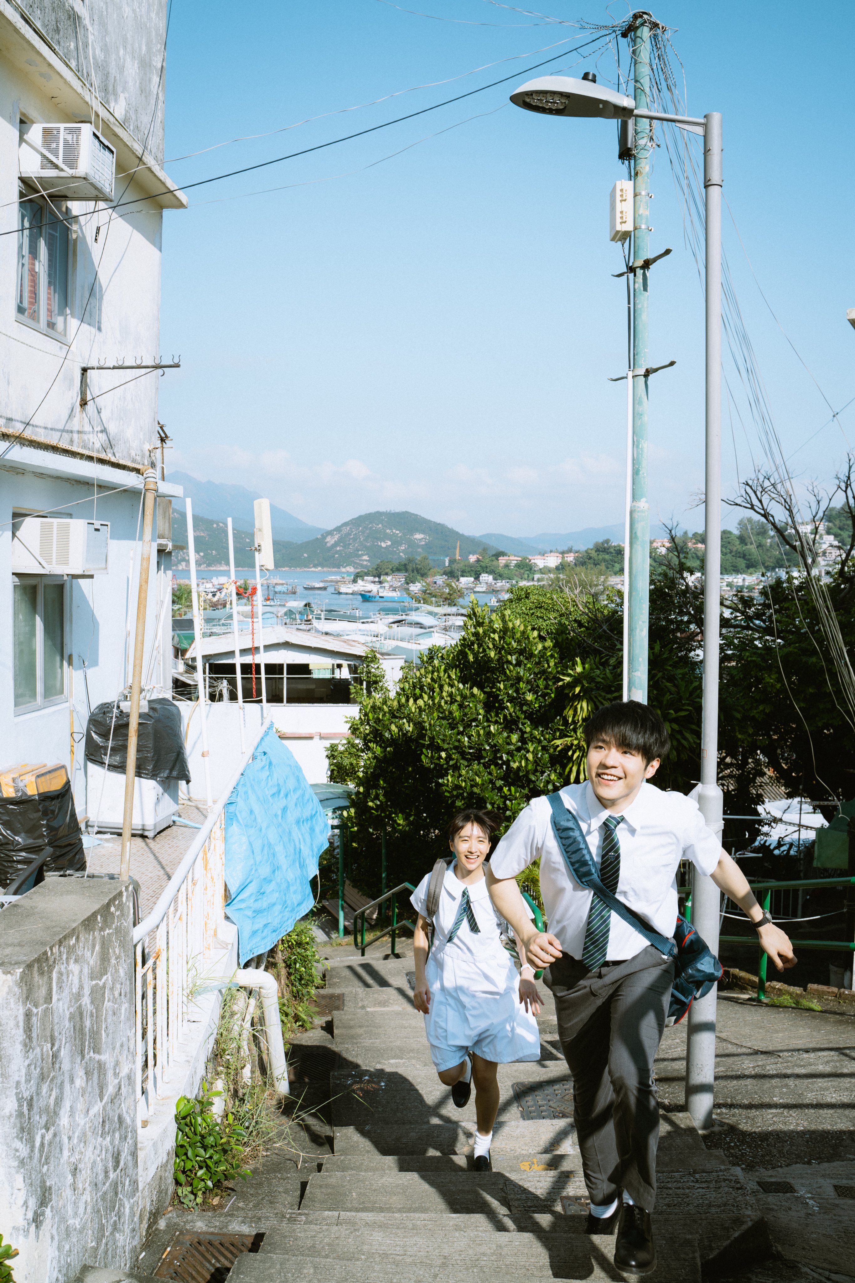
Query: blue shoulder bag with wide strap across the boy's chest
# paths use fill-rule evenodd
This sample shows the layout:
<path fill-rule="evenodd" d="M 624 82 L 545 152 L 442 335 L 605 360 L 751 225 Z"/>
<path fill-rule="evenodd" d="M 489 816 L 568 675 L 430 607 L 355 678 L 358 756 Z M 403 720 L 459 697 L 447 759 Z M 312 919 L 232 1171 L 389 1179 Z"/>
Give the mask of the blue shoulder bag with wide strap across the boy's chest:
<path fill-rule="evenodd" d="M 552 830 L 573 879 L 579 887 L 599 896 L 613 913 L 617 913 L 640 935 L 643 935 L 649 944 L 659 949 L 663 957 L 674 960 L 674 983 L 670 990 L 668 1024 L 679 1024 L 695 998 L 702 998 L 722 979 L 724 974 L 722 964 L 692 924 L 687 922 L 679 913 L 673 937 L 660 935 L 645 922 L 640 913 L 606 890 L 600 881 L 591 848 L 579 821 L 564 806 L 559 793 L 549 794 L 549 804 L 552 810 Z"/>

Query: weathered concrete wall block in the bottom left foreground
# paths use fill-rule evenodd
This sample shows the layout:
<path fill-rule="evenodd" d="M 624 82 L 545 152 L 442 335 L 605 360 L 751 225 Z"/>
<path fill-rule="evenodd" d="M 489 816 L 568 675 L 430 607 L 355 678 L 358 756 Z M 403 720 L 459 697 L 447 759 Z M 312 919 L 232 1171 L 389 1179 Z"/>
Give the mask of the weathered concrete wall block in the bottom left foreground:
<path fill-rule="evenodd" d="M 138 1256 L 132 906 L 49 879 L 0 912 L 0 1221 L 17 1283 Z"/>

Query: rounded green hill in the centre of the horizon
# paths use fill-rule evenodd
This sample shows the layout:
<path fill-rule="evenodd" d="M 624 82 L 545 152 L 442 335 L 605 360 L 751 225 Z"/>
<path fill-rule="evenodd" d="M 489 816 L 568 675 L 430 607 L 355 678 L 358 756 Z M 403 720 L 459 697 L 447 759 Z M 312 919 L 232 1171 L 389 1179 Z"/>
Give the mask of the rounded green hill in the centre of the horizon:
<path fill-rule="evenodd" d="M 292 570 L 336 570 L 340 566 L 364 570 L 378 561 L 400 561 L 423 553 L 441 563 L 454 557 L 458 541 L 460 556 L 468 557 L 483 548 L 486 540 L 461 535 L 415 512 L 367 512 L 327 530 L 318 539 L 296 544 L 283 565 Z"/>

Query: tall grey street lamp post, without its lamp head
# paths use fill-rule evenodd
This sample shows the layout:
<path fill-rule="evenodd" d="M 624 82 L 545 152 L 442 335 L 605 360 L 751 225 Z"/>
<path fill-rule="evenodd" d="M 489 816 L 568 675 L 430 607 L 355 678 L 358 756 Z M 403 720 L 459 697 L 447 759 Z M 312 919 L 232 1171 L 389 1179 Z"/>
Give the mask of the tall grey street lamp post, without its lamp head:
<path fill-rule="evenodd" d="M 697 804 L 709 829 L 723 829 L 724 795 L 718 786 L 719 613 L 722 607 L 722 117 L 709 112 L 704 133 L 706 204 L 706 486 L 704 534 L 704 711 L 701 784 Z M 720 893 L 692 871 L 692 925 L 718 953 Z M 688 1008 L 686 1109 L 699 1130 L 713 1126 L 717 989 Z"/>

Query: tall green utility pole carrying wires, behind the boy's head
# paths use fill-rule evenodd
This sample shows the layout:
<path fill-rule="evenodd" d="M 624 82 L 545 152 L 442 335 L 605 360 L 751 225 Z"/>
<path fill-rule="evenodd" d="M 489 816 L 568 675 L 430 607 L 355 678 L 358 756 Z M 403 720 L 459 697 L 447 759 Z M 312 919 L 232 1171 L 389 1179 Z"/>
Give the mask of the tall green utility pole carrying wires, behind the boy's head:
<path fill-rule="evenodd" d="M 650 108 L 650 24 L 649 14 L 638 14 L 632 32 L 636 106 Z M 632 262 L 650 254 L 650 121 L 636 119 L 633 163 Z M 647 353 L 647 277 L 636 271 L 632 277 L 632 504 L 629 506 L 629 663 L 628 695 L 647 703 L 647 627 L 650 616 L 650 508 L 647 504 L 647 380 L 636 371 L 649 364 Z"/>

